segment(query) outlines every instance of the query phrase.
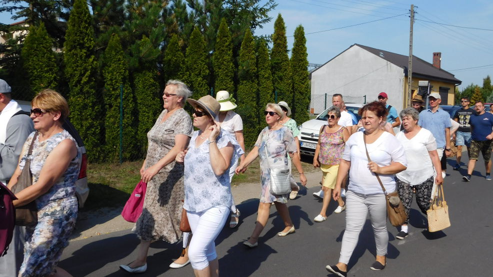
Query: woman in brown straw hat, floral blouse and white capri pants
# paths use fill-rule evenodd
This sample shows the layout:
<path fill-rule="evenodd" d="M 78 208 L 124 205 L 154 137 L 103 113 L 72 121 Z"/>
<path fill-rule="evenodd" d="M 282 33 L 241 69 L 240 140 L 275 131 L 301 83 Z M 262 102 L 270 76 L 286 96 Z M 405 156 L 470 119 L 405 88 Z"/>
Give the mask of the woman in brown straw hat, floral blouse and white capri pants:
<path fill-rule="evenodd" d="M 193 106 L 193 132 L 188 149 L 176 156 L 184 163 L 185 202 L 183 209 L 193 236 L 188 259 L 195 276 L 218 276 L 219 263 L 214 240 L 224 227 L 232 205 L 229 169 L 243 150 L 216 121 L 219 102 L 206 95 L 188 99 Z"/>

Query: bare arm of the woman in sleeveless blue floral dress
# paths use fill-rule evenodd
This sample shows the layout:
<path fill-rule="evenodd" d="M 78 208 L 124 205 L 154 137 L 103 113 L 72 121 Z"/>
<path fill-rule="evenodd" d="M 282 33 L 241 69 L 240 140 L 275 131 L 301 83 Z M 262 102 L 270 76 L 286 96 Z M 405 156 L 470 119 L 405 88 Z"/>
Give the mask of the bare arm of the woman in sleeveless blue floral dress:
<path fill-rule="evenodd" d="M 61 141 L 46 158 L 41 172 L 39 172 L 37 182 L 17 193 L 15 196 L 18 199 L 13 201 L 13 205 L 15 207 L 26 205 L 48 192 L 53 184 L 65 173 L 75 155 L 77 155 L 75 143 L 69 139 Z M 15 178 L 15 182 L 17 178 L 18 175 Z M 9 186 L 13 185 L 12 181 L 14 180 L 10 181 Z"/>

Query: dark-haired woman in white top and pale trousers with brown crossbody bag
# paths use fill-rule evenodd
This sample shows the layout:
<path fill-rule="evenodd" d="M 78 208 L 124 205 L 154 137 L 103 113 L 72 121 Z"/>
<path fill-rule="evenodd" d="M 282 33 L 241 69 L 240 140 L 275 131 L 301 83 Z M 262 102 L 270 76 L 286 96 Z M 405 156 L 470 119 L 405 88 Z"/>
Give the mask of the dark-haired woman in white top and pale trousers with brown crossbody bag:
<path fill-rule="evenodd" d="M 380 129 L 380 123 L 385 120 L 385 112 L 385 106 L 379 102 L 368 103 L 359 110 L 364 132 L 356 132 L 349 137 L 340 159 L 332 197 L 336 201 L 339 199 L 342 180 L 349 171 L 346 226 L 342 236 L 339 262 L 334 266 L 325 267 L 337 276 L 347 275 L 347 264 L 368 213 L 376 245 L 376 261 L 370 269 L 382 270 L 385 267 L 388 244 L 387 211 L 385 195 L 375 174 L 380 176 L 385 190 L 391 193 L 395 191 L 394 174 L 406 168 L 402 144 L 394 136 Z M 366 158 L 365 148 L 368 149 L 371 162 Z"/>

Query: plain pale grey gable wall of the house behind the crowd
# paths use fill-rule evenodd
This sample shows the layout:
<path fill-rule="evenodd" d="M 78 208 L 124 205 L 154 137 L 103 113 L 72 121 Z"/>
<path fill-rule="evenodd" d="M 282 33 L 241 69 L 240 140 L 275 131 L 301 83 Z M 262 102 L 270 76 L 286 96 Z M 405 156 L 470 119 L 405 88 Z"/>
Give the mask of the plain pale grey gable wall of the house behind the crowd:
<path fill-rule="evenodd" d="M 399 111 L 404 103 L 405 82 L 401 67 L 353 45 L 312 72 L 310 108 L 313 113 L 323 111 L 323 100 L 320 100 L 323 97 L 319 95 L 324 93 L 340 93 L 343 96 L 366 95 L 368 103 L 376 100 L 378 93 L 384 91 L 388 95 L 387 103 Z M 332 99 L 327 101 L 329 107 Z"/>

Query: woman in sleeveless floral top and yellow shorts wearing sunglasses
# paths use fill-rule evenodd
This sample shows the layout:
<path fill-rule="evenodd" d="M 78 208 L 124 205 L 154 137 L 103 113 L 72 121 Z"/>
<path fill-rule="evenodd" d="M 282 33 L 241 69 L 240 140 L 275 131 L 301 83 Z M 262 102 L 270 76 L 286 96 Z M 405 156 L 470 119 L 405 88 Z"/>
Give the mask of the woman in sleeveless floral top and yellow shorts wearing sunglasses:
<path fill-rule="evenodd" d="M 344 143 L 349 138 L 347 129 L 337 124 L 339 119 L 339 108 L 330 107 L 327 111 L 328 125 L 323 125 L 320 128 L 318 142 L 316 143 L 313 167 L 319 167 L 323 173 L 323 202 L 320 213 L 313 219 L 315 222 L 322 222 L 327 219 L 327 208 L 332 196 L 332 190 L 335 188 L 335 179 L 337 179 L 337 170 L 344 151 Z M 346 209 L 346 206 L 341 197 L 337 199 L 337 203 L 339 206 L 334 213 L 339 214 Z"/>

